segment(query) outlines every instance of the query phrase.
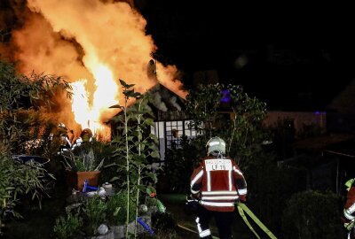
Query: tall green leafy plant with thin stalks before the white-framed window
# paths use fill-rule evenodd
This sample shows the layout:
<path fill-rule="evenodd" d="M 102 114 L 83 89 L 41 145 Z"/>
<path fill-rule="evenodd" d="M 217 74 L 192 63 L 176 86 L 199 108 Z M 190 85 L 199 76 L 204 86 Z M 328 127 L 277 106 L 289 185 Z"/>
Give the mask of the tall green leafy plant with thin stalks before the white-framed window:
<path fill-rule="evenodd" d="M 116 150 L 114 150 L 114 156 L 124 155 L 126 159 L 126 181 L 123 185 L 126 187 L 128 195 L 127 226 L 130 218 L 130 196 L 135 197 L 137 218 L 140 192 L 146 193 L 152 189 L 155 190 L 153 186 L 157 179 L 155 173 L 152 172 L 152 166 L 149 164 L 148 158 L 157 158 L 159 153 L 156 146 L 158 142 L 156 136 L 148 133 L 150 132 L 150 127 L 154 126 L 152 112 L 147 107 L 148 94 L 142 95 L 139 92 L 135 92 L 133 89 L 134 84 L 127 84 L 122 80 L 120 82 L 123 89 L 124 104 L 117 104 L 111 106 L 111 108 L 120 108 L 122 110 L 122 113 L 113 119 L 120 124 L 117 130 L 122 132 L 122 134 L 117 134 L 112 143 L 117 146 Z M 118 172 L 122 172 L 122 167 L 118 167 Z M 113 180 L 115 179 L 118 178 Z M 137 232 L 135 230 L 136 236 Z M 128 237 L 128 227 L 126 237 Z"/>

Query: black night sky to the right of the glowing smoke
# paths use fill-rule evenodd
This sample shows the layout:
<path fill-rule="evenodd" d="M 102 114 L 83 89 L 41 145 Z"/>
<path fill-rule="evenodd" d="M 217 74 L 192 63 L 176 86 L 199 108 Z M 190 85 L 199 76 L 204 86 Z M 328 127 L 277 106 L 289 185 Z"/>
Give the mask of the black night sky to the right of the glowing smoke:
<path fill-rule="evenodd" d="M 241 84 L 269 108 L 323 110 L 354 78 L 355 20 L 346 6 L 225 2 L 138 4 L 156 58 L 177 65 L 186 88 L 194 72 L 217 70 L 220 82 Z"/>

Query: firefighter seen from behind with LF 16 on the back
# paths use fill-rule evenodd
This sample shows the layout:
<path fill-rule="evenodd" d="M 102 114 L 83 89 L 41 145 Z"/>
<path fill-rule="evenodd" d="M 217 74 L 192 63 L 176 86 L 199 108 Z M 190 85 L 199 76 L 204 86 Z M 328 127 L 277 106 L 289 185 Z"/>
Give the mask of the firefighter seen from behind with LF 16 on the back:
<path fill-rule="evenodd" d="M 232 158 L 225 158 L 225 141 L 212 137 L 206 144 L 207 158 L 191 176 L 191 193 L 199 210 L 196 224 L 200 238 L 212 238 L 209 221 L 215 218 L 219 238 L 233 238 L 234 203 L 246 201 L 247 182 Z"/>

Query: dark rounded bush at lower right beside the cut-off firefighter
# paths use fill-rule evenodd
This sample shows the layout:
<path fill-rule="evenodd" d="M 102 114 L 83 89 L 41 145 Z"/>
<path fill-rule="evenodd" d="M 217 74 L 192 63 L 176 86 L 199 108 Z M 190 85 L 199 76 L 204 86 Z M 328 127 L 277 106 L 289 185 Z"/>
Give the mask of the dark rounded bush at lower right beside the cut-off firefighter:
<path fill-rule="evenodd" d="M 346 238 L 340 220 L 342 208 L 341 197 L 332 192 L 296 193 L 288 200 L 282 215 L 282 238 Z"/>

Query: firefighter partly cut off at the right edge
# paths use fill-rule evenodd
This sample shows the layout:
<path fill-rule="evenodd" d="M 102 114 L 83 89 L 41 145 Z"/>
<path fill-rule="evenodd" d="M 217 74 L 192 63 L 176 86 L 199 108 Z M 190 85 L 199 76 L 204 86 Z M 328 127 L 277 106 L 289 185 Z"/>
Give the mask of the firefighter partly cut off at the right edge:
<path fill-rule="evenodd" d="M 349 230 L 348 239 L 355 239 L 355 179 L 351 179 L 345 183 L 348 193 L 346 203 L 343 209 L 344 227 Z"/>

